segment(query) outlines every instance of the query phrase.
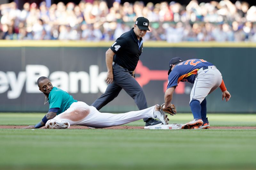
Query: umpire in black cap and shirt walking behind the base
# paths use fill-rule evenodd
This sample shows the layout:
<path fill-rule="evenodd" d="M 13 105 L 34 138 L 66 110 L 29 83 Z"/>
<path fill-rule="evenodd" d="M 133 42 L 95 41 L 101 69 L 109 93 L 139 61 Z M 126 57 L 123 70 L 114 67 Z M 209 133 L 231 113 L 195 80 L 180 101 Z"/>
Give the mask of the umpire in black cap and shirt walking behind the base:
<path fill-rule="evenodd" d="M 108 73 L 106 82 L 108 87 L 105 93 L 92 103 L 92 106 L 96 107 L 97 110 L 114 100 L 122 89 L 134 99 L 140 110 L 148 107 L 145 94 L 135 80 L 134 74 L 143 50 L 142 37 L 147 31 L 150 31 L 148 26 L 147 18 L 137 18 L 134 28 L 122 34 L 107 50 L 106 65 Z M 143 120 L 146 122 L 145 126 L 162 123 L 152 118 Z"/>

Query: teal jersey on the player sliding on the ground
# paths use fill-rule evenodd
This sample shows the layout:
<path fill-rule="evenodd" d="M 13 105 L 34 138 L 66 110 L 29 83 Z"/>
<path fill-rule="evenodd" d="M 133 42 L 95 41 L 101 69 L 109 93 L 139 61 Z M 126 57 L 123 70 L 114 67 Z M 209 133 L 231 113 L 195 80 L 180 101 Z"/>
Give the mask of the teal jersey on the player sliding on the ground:
<path fill-rule="evenodd" d="M 70 94 L 57 87 L 53 87 L 49 94 L 49 109 L 60 108 L 57 115 L 67 110 L 74 102 L 77 102 L 77 100 L 73 99 Z"/>

